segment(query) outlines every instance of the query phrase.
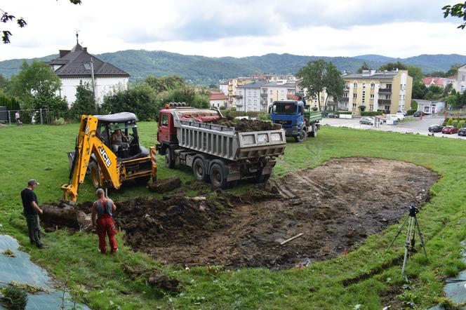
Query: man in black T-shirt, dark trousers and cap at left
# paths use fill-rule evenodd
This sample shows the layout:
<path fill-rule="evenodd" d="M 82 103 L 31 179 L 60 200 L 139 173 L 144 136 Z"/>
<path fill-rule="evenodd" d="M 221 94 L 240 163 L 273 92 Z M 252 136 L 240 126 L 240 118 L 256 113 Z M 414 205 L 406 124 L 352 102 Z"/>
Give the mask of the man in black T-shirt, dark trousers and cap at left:
<path fill-rule="evenodd" d="M 29 180 L 27 187 L 21 191 L 22 207 L 27 222 L 27 232 L 29 241 L 35 244 L 37 248 L 44 248 L 41 241 L 41 231 L 39 226 L 39 213 L 42 214 L 41 208 L 37 204 L 37 196 L 34 189 L 39 185 L 36 180 Z"/>

